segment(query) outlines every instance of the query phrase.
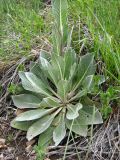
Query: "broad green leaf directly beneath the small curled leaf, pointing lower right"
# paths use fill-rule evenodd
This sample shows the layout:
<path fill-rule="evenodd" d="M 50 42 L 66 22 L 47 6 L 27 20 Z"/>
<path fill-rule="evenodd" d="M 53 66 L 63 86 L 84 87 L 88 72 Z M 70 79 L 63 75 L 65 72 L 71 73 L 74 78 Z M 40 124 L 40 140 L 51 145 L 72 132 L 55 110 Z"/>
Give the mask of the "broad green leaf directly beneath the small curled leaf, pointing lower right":
<path fill-rule="evenodd" d="M 87 136 L 87 130 L 88 126 L 87 125 L 80 125 L 78 119 L 74 120 L 67 120 L 66 119 L 66 126 L 68 129 L 71 129 L 74 133 L 86 137 Z"/>

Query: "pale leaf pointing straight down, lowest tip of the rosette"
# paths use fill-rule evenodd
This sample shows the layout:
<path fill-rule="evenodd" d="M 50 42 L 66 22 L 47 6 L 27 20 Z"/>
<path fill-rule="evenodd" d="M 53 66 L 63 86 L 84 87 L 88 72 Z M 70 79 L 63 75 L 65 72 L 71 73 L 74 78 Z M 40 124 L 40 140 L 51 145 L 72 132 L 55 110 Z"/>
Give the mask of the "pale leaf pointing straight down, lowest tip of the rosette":
<path fill-rule="evenodd" d="M 53 132 L 53 140 L 55 142 L 55 146 L 57 146 L 63 140 L 65 135 L 66 135 L 65 120 L 64 116 L 62 115 L 58 126 L 55 128 Z"/>

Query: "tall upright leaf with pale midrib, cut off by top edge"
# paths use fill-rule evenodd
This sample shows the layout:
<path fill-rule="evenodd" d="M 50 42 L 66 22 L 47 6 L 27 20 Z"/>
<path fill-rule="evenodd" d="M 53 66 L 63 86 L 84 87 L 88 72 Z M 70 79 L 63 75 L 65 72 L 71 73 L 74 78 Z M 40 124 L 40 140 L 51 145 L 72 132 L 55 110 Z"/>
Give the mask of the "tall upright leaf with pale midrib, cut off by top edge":
<path fill-rule="evenodd" d="M 52 0 L 52 10 L 55 20 L 53 30 L 53 47 L 58 55 L 62 52 L 63 45 L 67 42 L 67 0 Z"/>

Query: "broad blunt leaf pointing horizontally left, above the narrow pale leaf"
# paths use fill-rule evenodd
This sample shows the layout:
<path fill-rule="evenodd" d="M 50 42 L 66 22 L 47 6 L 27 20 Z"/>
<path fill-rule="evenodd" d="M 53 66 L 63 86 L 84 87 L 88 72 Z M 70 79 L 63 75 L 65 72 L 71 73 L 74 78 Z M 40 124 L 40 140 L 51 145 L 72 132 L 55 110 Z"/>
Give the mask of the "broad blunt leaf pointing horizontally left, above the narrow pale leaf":
<path fill-rule="evenodd" d="M 41 99 L 31 94 L 21 94 L 12 96 L 15 106 L 23 108 L 38 108 L 40 107 Z"/>

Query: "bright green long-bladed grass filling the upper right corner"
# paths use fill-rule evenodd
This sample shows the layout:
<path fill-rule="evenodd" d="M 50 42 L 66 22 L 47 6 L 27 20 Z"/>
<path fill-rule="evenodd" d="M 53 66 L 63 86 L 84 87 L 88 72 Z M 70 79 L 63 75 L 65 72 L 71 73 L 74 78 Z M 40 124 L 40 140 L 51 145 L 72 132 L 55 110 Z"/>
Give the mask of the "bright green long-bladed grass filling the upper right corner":
<path fill-rule="evenodd" d="M 72 1 L 72 0 L 71 0 Z M 93 43 L 89 51 L 105 63 L 105 73 L 120 83 L 119 0 L 77 0 L 70 9 L 74 20 L 86 25 Z M 82 26 L 81 24 L 81 26 Z M 89 43 L 89 40 L 88 40 Z"/>

